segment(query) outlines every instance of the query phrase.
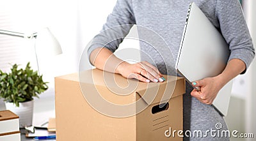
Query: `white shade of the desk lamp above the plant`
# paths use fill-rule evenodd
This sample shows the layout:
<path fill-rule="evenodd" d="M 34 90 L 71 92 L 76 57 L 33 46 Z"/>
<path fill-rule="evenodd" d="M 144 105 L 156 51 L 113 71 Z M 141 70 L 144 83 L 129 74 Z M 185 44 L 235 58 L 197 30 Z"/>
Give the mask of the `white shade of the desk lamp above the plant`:
<path fill-rule="evenodd" d="M 43 49 L 54 56 L 62 54 L 59 41 L 51 33 L 48 27 L 45 27 L 36 33 L 35 48 L 40 48 L 40 50 Z"/>

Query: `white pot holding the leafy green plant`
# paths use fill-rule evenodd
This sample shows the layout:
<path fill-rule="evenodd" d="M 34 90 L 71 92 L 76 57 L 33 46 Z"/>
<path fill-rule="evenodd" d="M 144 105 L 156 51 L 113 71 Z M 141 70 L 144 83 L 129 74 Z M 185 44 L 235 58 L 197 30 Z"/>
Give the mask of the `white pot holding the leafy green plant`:
<path fill-rule="evenodd" d="M 31 100 L 22 102 L 19 103 L 19 105 L 19 107 L 16 107 L 16 105 L 13 103 L 5 103 L 6 110 L 11 110 L 15 114 L 19 115 L 20 128 L 24 128 L 24 126 L 31 126 L 33 119 L 34 101 Z"/>

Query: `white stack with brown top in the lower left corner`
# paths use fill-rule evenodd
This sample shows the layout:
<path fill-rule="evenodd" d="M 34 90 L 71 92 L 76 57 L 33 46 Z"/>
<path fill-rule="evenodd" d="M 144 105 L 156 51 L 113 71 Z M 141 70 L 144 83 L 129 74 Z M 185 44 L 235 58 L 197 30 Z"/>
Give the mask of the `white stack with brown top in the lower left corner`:
<path fill-rule="evenodd" d="M 0 140 L 20 141 L 19 116 L 10 110 L 0 111 Z"/>

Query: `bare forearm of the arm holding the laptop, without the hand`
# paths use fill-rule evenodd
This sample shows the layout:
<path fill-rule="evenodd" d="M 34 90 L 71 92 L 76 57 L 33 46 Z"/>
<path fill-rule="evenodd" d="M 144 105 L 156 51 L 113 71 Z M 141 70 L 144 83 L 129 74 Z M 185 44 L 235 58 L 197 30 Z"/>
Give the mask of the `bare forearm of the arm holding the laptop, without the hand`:
<path fill-rule="evenodd" d="M 240 59 L 231 59 L 223 70 L 223 72 L 217 76 L 220 80 L 221 87 L 223 87 L 227 82 L 235 78 L 237 75 L 242 73 L 246 69 L 246 65 Z"/>

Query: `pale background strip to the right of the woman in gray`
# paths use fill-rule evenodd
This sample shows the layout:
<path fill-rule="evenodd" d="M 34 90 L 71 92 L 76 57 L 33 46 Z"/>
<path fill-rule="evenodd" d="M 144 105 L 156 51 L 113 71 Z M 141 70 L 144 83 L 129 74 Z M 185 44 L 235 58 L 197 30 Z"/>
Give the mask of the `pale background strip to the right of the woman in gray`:
<path fill-rule="evenodd" d="M 243 0 L 243 11 L 252 35 L 254 47 L 256 45 L 256 1 Z M 254 133 L 256 135 L 256 61 L 253 60 L 244 75 L 236 77 L 232 89 L 227 124 L 232 130 Z M 241 108 L 243 107 L 243 108 Z M 241 120 L 239 120 L 241 119 Z M 237 140 L 253 140 L 253 138 L 233 138 Z"/>

